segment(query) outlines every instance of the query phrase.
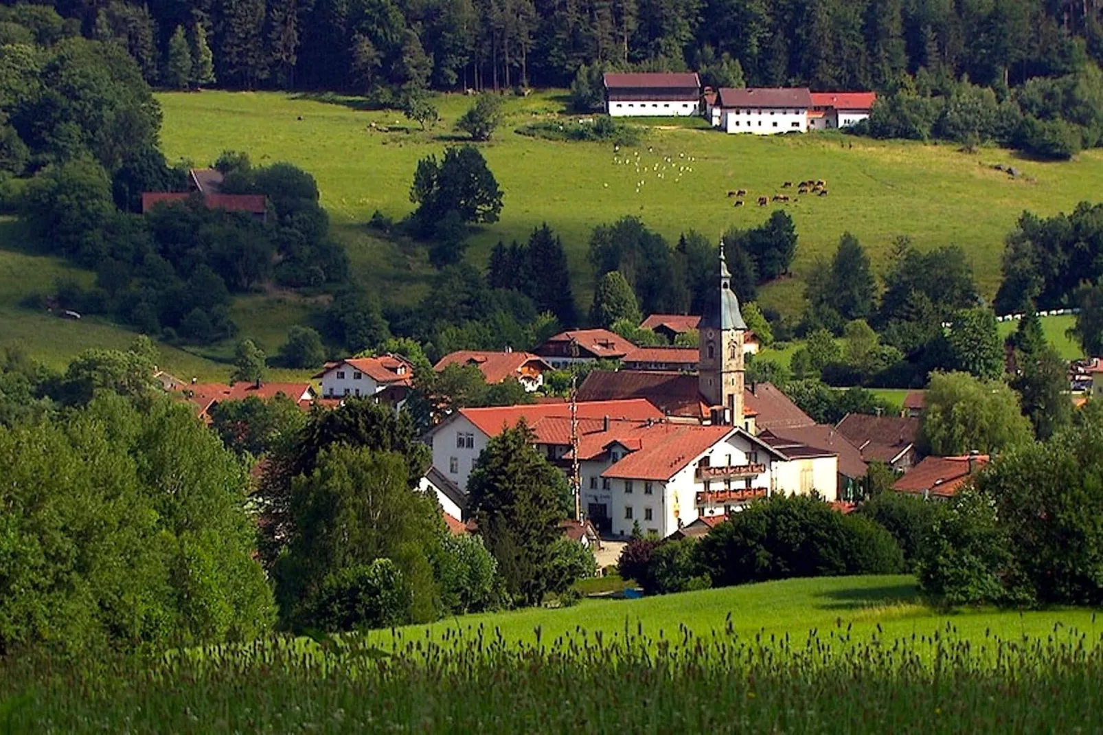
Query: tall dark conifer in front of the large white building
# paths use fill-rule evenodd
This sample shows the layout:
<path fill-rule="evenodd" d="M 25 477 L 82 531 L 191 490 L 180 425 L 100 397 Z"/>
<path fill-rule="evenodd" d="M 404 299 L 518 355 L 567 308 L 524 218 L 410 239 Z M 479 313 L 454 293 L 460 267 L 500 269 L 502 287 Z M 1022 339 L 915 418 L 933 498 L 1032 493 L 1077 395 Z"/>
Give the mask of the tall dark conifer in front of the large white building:
<path fill-rule="evenodd" d="M 563 472 L 534 448 L 524 423 L 492 438 L 468 480 L 470 507 L 508 593 L 537 605 L 554 582 L 552 545 L 569 498 Z"/>

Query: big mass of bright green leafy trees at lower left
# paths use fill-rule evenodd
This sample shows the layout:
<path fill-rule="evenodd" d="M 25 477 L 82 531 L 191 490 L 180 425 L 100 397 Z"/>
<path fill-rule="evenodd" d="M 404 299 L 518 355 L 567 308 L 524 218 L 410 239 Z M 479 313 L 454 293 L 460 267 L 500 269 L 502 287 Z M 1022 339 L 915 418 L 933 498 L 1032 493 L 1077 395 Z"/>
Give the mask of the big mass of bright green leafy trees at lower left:
<path fill-rule="evenodd" d="M 248 639 L 272 621 L 244 467 L 185 406 L 0 428 L 0 648 Z"/>

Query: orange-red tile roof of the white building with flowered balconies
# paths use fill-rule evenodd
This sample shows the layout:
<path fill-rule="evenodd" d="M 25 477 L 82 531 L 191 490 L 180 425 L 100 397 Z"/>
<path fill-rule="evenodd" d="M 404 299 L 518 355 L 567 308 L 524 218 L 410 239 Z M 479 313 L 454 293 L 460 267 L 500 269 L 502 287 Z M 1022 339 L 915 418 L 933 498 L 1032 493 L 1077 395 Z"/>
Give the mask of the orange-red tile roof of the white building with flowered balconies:
<path fill-rule="evenodd" d="M 665 481 L 685 469 L 709 447 L 737 432 L 730 426 L 697 426 L 660 422 L 641 427 L 640 449 L 601 473 L 601 477 Z"/>

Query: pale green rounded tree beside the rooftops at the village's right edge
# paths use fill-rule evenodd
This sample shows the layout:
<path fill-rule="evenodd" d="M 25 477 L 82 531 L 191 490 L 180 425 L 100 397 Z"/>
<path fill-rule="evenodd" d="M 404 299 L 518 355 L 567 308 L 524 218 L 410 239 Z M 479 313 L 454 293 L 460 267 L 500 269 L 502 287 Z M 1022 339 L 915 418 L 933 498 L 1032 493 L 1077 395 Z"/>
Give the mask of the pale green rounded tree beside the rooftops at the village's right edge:
<path fill-rule="evenodd" d="M 1019 396 L 1003 381 L 934 373 L 920 418 L 920 440 L 940 456 L 1000 451 L 1030 441 Z"/>

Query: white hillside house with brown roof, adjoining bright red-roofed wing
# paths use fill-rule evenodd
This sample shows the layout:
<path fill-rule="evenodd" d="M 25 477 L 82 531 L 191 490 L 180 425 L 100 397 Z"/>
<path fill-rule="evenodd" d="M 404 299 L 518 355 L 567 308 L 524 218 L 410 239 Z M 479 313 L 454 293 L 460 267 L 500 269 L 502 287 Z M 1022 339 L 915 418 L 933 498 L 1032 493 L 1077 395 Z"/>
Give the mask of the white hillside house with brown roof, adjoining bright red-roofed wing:
<path fill-rule="evenodd" d="M 812 94 L 806 87 L 721 87 L 716 104 L 725 132 L 805 132 Z"/>

